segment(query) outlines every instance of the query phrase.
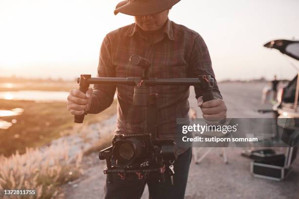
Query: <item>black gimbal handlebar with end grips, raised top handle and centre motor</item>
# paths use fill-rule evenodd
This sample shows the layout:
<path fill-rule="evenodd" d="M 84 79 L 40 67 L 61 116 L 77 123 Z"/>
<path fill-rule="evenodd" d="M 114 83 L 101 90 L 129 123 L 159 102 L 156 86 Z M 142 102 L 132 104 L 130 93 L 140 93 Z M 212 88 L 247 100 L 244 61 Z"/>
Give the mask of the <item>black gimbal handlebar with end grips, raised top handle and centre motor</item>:
<path fill-rule="evenodd" d="M 78 78 L 79 90 L 86 93 L 90 84 L 109 84 L 109 85 L 129 85 L 135 86 L 134 90 L 134 101 L 135 97 L 139 102 L 134 104 L 145 106 L 148 103 L 147 96 L 149 95 L 149 86 L 158 85 L 176 85 L 176 86 L 195 86 L 199 85 L 202 90 L 203 101 L 214 100 L 213 95 L 213 78 L 210 75 L 201 75 L 198 78 L 171 78 L 171 79 L 157 79 L 149 78 L 149 67 L 150 63 L 148 60 L 138 56 L 132 55 L 130 57 L 130 63 L 132 65 L 140 66 L 144 69 L 142 77 L 129 77 L 129 78 L 91 78 L 91 75 L 81 75 Z M 142 91 L 142 92 L 141 92 Z M 141 92 L 141 93 L 140 93 Z M 136 95 L 135 95 L 136 94 Z M 82 123 L 85 114 L 74 116 L 74 122 Z"/>

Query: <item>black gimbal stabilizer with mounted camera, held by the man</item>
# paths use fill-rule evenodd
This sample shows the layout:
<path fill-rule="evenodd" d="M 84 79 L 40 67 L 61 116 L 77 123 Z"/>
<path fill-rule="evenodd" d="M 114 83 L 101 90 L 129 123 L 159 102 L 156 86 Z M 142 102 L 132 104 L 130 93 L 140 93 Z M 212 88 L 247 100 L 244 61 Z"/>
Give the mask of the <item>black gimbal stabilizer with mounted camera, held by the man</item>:
<path fill-rule="evenodd" d="M 201 75 L 198 78 L 149 78 L 150 63 L 148 60 L 132 55 L 129 59 L 132 65 L 143 68 L 142 77 L 128 78 L 91 78 L 91 75 L 81 75 L 78 78 L 79 90 L 86 93 L 90 84 L 129 85 L 134 86 L 133 105 L 148 107 L 146 113 L 146 126 L 144 134 L 116 135 L 112 139 L 112 146 L 100 151 L 99 158 L 107 160 L 108 181 L 112 182 L 112 173 L 118 173 L 122 179 L 127 173 L 136 173 L 141 179 L 143 174 L 158 172 L 160 181 L 164 181 L 165 162 L 177 158 L 175 142 L 173 140 L 158 139 L 159 118 L 156 107 L 158 94 L 149 94 L 150 86 L 199 85 L 202 90 L 203 101 L 213 100 L 213 79 L 209 75 Z M 84 116 L 75 116 L 74 122 L 82 123 Z M 116 160 L 116 166 L 112 166 L 112 160 Z"/>

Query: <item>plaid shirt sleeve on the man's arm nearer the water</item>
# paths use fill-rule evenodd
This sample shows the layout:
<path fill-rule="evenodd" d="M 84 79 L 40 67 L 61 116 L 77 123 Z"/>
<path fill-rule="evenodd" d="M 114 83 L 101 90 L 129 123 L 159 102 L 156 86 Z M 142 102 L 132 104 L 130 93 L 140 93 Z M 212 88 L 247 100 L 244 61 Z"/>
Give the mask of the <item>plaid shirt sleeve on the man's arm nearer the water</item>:
<path fill-rule="evenodd" d="M 115 67 L 111 60 L 111 40 L 107 35 L 102 42 L 97 77 L 115 77 Z M 88 113 L 97 114 L 107 109 L 113 102 L 116 85 L 95 84 Z"/>

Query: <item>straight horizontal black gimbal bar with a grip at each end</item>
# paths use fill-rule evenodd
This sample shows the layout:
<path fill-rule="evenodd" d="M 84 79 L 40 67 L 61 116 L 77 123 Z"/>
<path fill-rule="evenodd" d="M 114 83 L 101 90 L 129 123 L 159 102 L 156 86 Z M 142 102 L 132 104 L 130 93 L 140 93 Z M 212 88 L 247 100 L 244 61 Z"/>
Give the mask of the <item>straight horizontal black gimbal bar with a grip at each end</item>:
<path fill-rule="evenodd" d="M 210 75 L 201 75 L 198 78 L 171 78 L 142 79 L 140 77 L 129 78 L 91 78 L 91 75 L 81 75 L 78 78 L 79 90 L 86 93 L 90 84 L 109 84 L 109 85 L 129 85 L 129 86 L 158 86 L 158 85 L 176 85 L 176 86 L 192 86 L 199 85 L 203 92 L 203 101 L 214 100 L 213 96 L 213 78 Z M 211 85 L 212 84 L 212 85 Z M 74 122 L 82 123 L 85 114 L 74 116 Z"/>

